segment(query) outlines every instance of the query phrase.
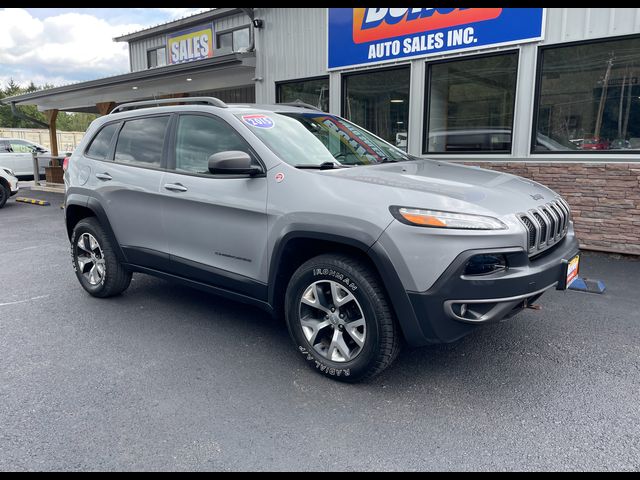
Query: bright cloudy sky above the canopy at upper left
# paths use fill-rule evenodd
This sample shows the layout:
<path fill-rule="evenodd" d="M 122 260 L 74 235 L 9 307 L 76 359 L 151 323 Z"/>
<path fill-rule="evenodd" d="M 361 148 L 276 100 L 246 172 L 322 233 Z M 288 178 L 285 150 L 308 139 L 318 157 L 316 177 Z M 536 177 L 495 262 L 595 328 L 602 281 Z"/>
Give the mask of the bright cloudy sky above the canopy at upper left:
<path fill-rule="evenodd" d="M 206 8 L 0 9 L 0 87 L 10 78 L 55 86 L 127 73 L 127 42 L 113 38 Z"/>

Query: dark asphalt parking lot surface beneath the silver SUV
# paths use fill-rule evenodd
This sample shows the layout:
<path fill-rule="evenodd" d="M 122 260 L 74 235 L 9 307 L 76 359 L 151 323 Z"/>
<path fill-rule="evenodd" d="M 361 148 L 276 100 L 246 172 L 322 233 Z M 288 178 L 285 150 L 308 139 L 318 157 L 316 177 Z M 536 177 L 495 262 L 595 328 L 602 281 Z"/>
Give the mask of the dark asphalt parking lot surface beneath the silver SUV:
<path fill-rule="evenodd" d="M 62 196 L 0 211 L 0 470 L 637 470 L 640 261 L 346 385 L 284 323 L 135 275 L 78 285 Z"/>

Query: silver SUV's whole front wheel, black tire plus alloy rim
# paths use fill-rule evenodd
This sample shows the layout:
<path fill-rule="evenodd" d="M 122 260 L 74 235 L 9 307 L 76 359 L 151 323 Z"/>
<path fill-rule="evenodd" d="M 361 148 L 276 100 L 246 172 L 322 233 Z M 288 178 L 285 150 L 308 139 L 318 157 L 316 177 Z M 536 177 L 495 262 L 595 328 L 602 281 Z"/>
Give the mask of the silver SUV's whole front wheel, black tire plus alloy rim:
<path fill-rule="evenodd" d="M 399 332 L 378 276 L 363 262 L 325 254 L 291 277 L 289 333 L 311 366 L 346 382 L 374 377 L 399 351 Z"/>

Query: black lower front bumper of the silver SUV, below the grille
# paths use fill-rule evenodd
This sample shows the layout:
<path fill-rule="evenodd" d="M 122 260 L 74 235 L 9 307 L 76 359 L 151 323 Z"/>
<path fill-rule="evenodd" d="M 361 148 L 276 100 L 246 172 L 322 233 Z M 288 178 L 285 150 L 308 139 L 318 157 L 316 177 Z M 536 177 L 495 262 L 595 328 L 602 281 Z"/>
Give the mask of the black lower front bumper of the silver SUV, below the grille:
<path fill-rule="evenodd" d="M 485 276 L 465 276 L 469 259 L 501 253 L 509 268 Z M 479 325 L 508 318 L 550 289 L 564 289 L 567 261 L 579 253 L 573 234 L 539 257 L 521 248 L 468 250 L 426 292 L 407 292 L 423 339 L 414 345 L 455 341 Z"/>

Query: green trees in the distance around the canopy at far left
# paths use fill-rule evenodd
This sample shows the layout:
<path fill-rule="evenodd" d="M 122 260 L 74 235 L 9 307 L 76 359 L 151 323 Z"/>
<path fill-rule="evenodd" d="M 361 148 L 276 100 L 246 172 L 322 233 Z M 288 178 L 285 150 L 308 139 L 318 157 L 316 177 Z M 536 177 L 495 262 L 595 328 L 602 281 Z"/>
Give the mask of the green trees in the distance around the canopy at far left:
<path fill-rule="evenodd" d="M 29 83 L 26 88 L 21 87 L 13 79 L 10 79 L 6 86 L 0 86 L 0 100 L 6 97 L 12 97 L 14 95 L 21 95 L 24 93 L 31 93 L 44 88 L 52 88 L 53 85 L 38 86 L 33 82 Z M 36 118 L 46 123 L 44 113 L 38 111 L 38 107 L 35 105 L 21 105 L 19 110 L 26 116 Z M 97 117 L 92 113 L 67 113 L 58 112 L 58 120 L 56 127 L 58 131 L 62 132 L 84 132 L 89 124 Z M 41 128 L 28 120 L 14 117 L 11 113 L 10 105 L 0 105 L 0 127 L 4 128 Z"/>

